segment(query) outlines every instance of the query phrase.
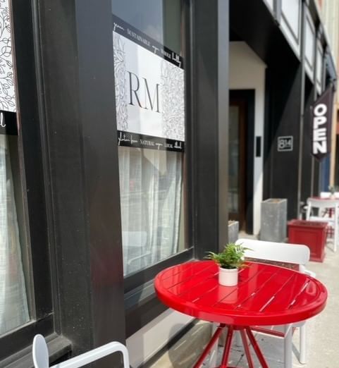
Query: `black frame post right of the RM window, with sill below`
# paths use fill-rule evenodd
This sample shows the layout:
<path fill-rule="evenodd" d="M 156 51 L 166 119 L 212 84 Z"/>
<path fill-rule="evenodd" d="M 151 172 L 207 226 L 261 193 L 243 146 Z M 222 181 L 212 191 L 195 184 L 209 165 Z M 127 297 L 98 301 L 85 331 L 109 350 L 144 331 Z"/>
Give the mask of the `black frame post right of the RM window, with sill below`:
<path fill-rule="evenodd" d="M 228 1 L 183 0 L 187 195 L 186 241 L 190 247 L 125 279 L 126 337 L 167 308 L 156 299 L 152 277 L 166 266 L 202 259 L 228 239 Z M 211 22 L 215 19 L 215 22 Z M 147 280 L 149 279 L 149 280 Z M 133 285 L 134 282 L 134 285 Z M 132 287 L 135 286 L 133 289 Z"/>

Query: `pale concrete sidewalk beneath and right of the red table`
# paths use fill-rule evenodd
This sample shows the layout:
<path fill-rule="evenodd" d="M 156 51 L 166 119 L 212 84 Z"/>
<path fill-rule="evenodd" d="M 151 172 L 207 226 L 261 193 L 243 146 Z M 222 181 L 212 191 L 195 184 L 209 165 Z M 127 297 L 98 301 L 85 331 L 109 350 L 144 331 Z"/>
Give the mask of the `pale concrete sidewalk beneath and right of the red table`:
<path fill-rule="evenodd" d="M 331 243 L 326 247 L 326 257 L 323 263 L 309 262 L 308 269 L 316 272 L 316 278 L 328 288 L 328 303 L 326 309 L 307 322 L 307 364 L 300 364 L 298 355 L 298 330 L 293 336 L 294 356 L 293 368 L 338 368 L 339 367 L 339 250 L 334 253 Z M 283 341 L 280 338 L 257 336 L 257 341 L 264 352 L 270 368 L 283 368 Z M 222 348 L 218 351 L 221 360 Z M 234 367 L 248 367 L 242 348 L 237 348 L 233 342 L 231 364 Z M 255 362 L 255 367 L 260 367 Z M 205 365 L 208 367 L 208 364 Z"/>

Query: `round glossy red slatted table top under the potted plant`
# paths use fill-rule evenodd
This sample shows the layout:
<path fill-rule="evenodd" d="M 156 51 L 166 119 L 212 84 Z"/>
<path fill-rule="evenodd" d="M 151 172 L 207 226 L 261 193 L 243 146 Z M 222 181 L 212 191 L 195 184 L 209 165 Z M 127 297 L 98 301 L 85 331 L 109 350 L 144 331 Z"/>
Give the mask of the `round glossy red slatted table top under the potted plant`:
<path fill-rule="evenodd" d="M 325 307 L 327 290 L 315 278 L 271 264 L 247 264 L 238 286 L 219 285 L 213 261 L 172 266 L 156 276 L 156 294 L 179 312 L 238 326 L 290 324 Z"/>

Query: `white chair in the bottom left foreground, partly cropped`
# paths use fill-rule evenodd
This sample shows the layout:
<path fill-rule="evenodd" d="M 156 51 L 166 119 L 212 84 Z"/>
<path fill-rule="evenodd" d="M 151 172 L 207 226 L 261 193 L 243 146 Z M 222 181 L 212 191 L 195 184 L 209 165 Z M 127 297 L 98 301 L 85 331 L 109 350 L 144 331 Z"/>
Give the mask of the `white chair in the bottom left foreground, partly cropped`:
<path fill-rule="evenodd" d="M 123 354 L 123 368 L 130 368 L 128 350 L 125 345 L 123 345 L 122 343 L 118 343 L 117 341 L 113 341 L 112 343 L 102 345 L 99 348 L 84 352 L 77 357 L 66 360 L 66 362 L 53 365 L 51 366 L 51 368 L 83 367 L 86 364 L 90 364 L 95 360 L 99 360 L 102 357 L 106 357 L 106 355 L 110 355 L 113 352 L 117 351 L 120 351 Z M 35 368 L 49 368 L 49 354 L 44 336 L 35 336 L 33 340 L 32 355 Z"/>

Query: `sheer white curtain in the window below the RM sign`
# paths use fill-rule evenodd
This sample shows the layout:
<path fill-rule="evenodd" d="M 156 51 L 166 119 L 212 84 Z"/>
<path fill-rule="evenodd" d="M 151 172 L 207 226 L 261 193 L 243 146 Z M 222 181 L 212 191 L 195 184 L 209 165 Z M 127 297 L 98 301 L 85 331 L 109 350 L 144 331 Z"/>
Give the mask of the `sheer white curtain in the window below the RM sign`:
<path fill-rule="evenodd" d="M 119 147 L 124 274 L 178 252 L 183 154 Z"/>

